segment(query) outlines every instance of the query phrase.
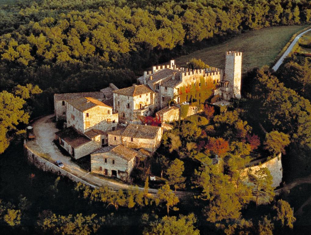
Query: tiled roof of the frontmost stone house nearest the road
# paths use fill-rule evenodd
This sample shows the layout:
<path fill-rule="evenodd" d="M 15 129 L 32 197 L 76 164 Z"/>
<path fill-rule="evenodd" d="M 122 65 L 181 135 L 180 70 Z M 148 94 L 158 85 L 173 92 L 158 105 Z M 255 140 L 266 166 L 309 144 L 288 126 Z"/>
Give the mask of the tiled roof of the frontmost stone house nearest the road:
<path fill-rule="evenodd" d="M 106 153 L 106 152 L 112 152 L 115 155 L 120 156 L 127 161 L 131 161 L 135 156 L 141 156 L 141 153 L 139 153 L 138 151 L 135 151 L 131 148 L 127 148 L 122 144 L 115 146 L 106 146 L 101 148 L 100 150 L 95 151 L 92 154 Z"/>

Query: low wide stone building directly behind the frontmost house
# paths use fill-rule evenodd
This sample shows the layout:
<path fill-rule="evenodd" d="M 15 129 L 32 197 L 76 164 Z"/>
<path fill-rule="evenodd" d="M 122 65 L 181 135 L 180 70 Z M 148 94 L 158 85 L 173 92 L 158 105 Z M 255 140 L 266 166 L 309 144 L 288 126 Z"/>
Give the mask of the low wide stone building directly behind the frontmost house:
<path fill-rule="evenodd" d="M 160 146 L 162 133 L 161 127 L 129 124 L 123 129 L 108 132 L 108 145 L 123 144 L 153 152 Z"/>

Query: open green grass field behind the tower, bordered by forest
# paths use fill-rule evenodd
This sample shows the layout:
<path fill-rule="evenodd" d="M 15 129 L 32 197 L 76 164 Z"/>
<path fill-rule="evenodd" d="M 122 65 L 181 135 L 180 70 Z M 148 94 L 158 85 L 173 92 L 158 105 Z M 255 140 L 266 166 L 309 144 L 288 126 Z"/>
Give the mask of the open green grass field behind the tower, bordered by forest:
<path fill-rule="evenodd" d="M 220 69 L 225 68 L 225 51 L 243 52 L 242 70 L 270 65 L 291 36 L 306 26 L 269 27 L 240 34 L 219 45 L 197 50 L 175 59 L 177 65 L 184 65 L 192 58 L 203 60 L 206 64 Z"/>

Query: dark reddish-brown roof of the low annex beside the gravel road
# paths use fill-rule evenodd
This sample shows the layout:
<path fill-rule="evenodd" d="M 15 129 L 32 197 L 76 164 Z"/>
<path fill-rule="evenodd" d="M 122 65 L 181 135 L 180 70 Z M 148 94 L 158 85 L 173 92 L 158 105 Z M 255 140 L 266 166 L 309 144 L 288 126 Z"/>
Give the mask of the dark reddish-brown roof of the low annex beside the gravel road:
<path fill-rule="evenodd" d="M 73 148 L 77 148 L 91 141 L 83 133 L 77 132 L 73 127 L 68 127 L 61 131 L 55 132 L 55 135 L 63 139 Z"/>

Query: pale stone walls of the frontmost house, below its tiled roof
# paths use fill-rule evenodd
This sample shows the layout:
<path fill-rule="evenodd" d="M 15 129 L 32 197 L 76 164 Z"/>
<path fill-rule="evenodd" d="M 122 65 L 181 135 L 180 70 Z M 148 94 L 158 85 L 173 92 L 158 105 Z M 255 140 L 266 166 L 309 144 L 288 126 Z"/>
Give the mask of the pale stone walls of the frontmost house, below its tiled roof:
<path fill-rule="evenodd" d="M 105 158 L 107 159 L 106 163 L 104 161 Z M 112 164 L 112 160 L 114 160 L 114 164 Z M 115 170 L 117 171 L 117 178 L 127 180 L 134 165 L 135 157 L 130 161 L 126 161 L 112 152 L 91 154 L 91 172 L 100 175 L 105 175 L 105 169 L 107 169 L 107 176 L 111 177 L 111 170 Z M 100 167 L 102 168 L 101 170 Z"/>

